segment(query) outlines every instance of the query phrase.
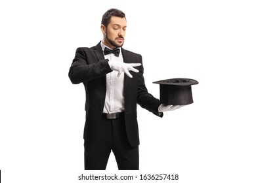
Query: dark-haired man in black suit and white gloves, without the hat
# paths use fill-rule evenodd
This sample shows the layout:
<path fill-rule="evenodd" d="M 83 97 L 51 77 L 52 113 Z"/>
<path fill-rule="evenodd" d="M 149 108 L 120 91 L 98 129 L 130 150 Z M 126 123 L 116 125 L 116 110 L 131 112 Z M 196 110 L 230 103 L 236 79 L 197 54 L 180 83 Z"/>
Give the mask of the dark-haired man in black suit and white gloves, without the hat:
<path fill-rule="evenodd" d="M 92 48 L 77 48 L 69 71 L 73 84 L 83 82 L 86 93 L 85 169 L 106 169 L 111 150 L 118 169 L 139 169 L 137 103 L 163 116 L 165 106 L 148 93 L 142 57 L 122 48 L 126 18 L 110 9 L 102 16 L 103 39 Z"/>

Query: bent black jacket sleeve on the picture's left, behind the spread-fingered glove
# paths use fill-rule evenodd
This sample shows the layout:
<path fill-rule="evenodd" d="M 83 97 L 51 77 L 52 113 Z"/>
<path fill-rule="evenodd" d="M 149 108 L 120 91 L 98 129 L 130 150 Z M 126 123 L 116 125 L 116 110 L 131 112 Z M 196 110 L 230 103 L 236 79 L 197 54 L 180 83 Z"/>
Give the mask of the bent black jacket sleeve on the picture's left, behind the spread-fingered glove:
<path fill-rule="evenodd" d="M 77 48 L 68 76 L 73 84 L 95 80 L 112 72 L 108 59 L 98 60 L 90 48 Z"/>

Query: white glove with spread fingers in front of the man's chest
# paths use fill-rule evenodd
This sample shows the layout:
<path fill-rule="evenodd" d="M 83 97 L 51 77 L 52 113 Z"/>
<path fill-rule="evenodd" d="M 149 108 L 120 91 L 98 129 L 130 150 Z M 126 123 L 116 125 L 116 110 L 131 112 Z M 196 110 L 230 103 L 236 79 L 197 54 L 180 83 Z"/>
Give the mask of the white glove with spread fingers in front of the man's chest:
<path fill-rule="evenodd" d="M 133 76 L 129 73 L 129 71 L 139 73 L 139 70 L 137 70 L 133 67 L 137 67 L 137 66 L 141 65 L 141 63 L 124 63 L 124 62 L 119 62 L 119 61 L 108 61 L 108 64 L 110 65 L 110 68 L 113 71 L 118 72 L 117 77 L 119 77 L 121 75 L 121 73 L 124 72 L 130 78 L 132 78 Z"/>

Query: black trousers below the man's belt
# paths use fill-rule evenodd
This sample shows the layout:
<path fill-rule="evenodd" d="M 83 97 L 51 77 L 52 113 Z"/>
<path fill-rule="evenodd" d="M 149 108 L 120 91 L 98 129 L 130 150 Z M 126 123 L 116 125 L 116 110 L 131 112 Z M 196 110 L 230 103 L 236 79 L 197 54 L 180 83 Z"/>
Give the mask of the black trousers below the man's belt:
<path fill-rule="evenodd" d="M 85 170 L 104 170 L 113 151 L 119 170 L 139 170 L 139 146 L 129 144 L 124 117 L 102 118 L 93 139 L 85 141 Z"/>

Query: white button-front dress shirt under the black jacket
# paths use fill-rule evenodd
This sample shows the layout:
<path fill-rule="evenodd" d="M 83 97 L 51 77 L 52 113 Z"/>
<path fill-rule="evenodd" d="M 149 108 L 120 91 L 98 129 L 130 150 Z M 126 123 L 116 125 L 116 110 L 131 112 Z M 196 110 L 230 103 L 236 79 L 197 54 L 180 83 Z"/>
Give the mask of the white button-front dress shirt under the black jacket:
<path fill-rule="evenodd" d="M 100 42 L 100 45 L 103 52 L 104 48 L 108 47 L 105 46 L 102 42 Z M 123 55 L 121 50 L 119 57 L 116 57 L 114 54 L 108 54 L 104 57 L 109 61 L 123 62 Z M 125 110 L 125 99 L 123 95 L 124 73 L 121 73 L 119 77 L 117 77 L 117 74 L 118 73 L 116 71 L 113 71 L 106 75 L 106 98 L 103 108 L 104 113 L 111 114 L 114 112 L 123 112 Z"/>

